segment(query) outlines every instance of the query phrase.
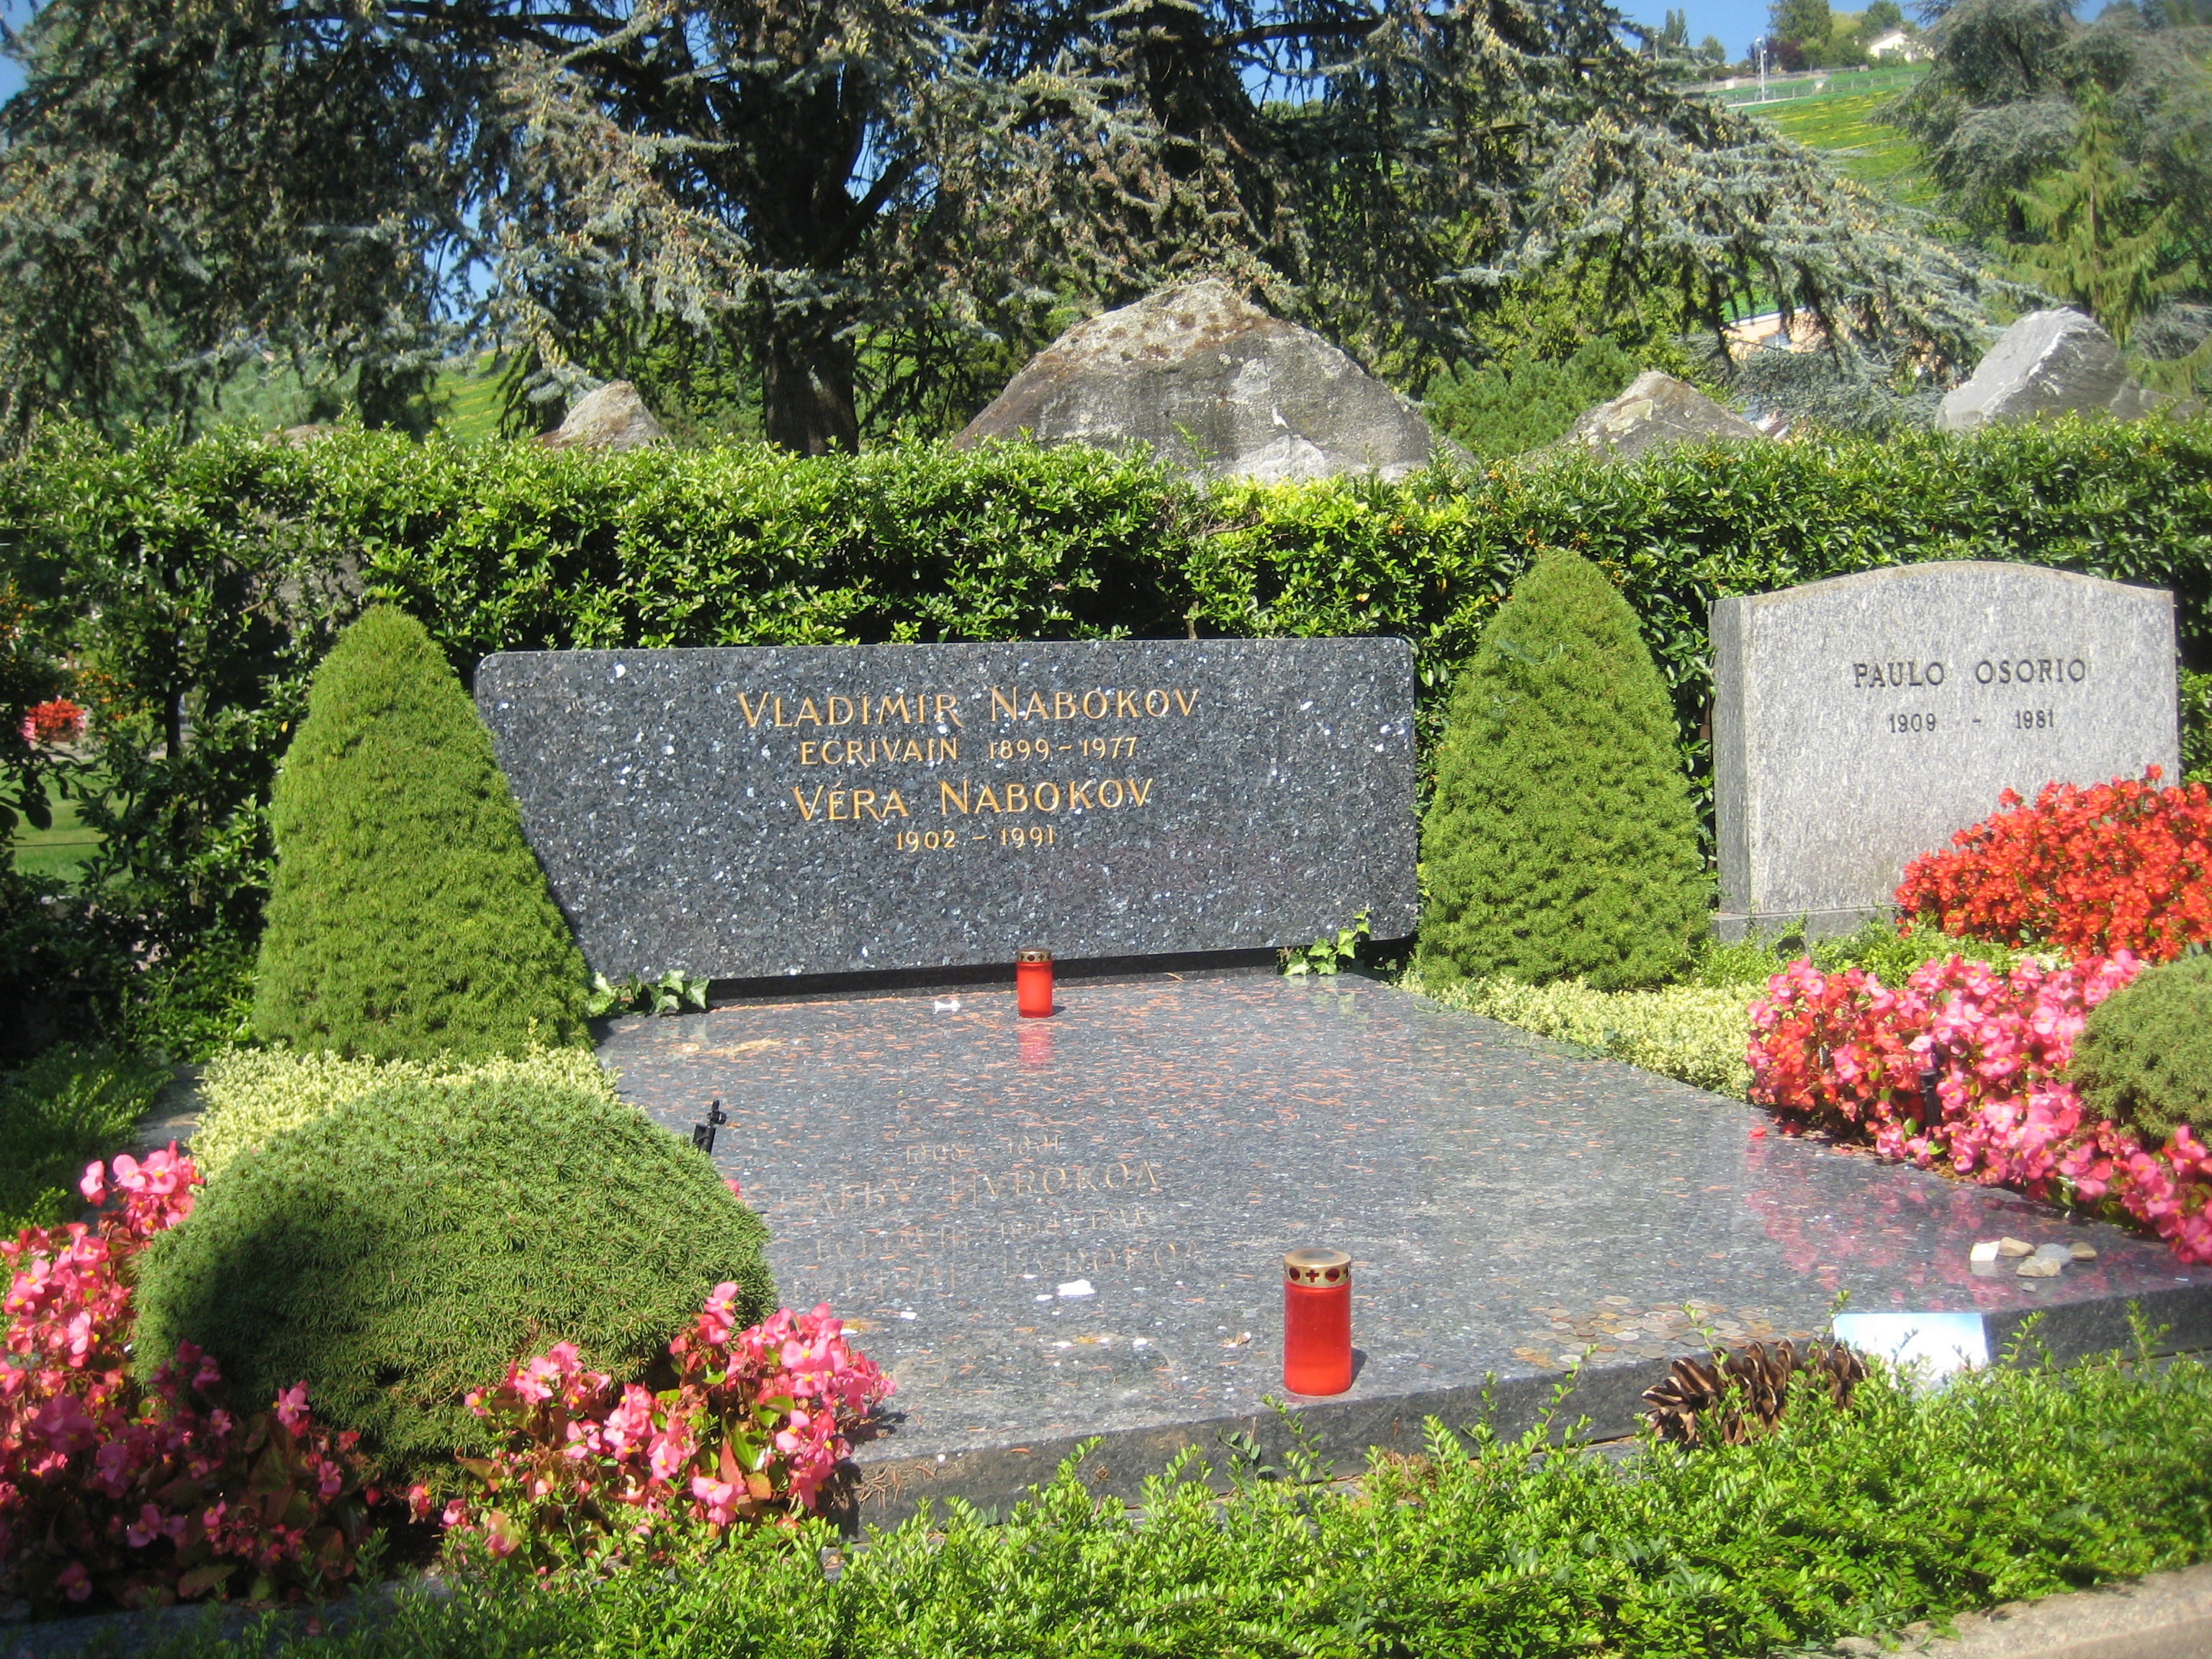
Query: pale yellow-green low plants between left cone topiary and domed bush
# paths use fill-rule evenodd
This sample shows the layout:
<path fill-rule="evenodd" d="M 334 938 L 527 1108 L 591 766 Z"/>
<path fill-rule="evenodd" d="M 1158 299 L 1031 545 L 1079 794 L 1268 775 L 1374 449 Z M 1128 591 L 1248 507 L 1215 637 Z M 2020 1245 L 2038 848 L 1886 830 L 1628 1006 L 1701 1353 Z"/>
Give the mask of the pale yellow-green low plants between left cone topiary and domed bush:
<path fill-rule="evenodd" d="M 290 1048 L 230 1048 L 210 1062 L 199 1079 L 199 1128 L 192 1130 L 192 1161 L 210 1181 L 239 1152 L 268 1146 L 288 1128 L 327 1117 L 341 1106 L 392 1084 L 460 1084 L 469 1079 L 557 1084 L 615 1099 L 615 1073 L 591 1048 L 538 1048 L 493 1055 L 473 1066 L 440 1066 L 422 1060 L 347 1060 L 327 1048 L 312 1055 Z"/>

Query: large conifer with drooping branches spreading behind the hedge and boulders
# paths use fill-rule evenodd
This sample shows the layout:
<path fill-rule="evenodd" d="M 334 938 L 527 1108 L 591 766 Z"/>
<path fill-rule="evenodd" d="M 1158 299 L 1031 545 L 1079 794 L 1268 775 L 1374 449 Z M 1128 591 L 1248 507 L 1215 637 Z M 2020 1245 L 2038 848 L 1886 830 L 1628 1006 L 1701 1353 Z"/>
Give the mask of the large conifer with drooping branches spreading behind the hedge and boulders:
<path fill-rule="evenodd" d="M 1761 299 L 1971 345 L 1971 265 L 1626 33 L 1597 0 L 53 0 L 4 113 L 0 416 L 177 414 L 268 354 L 418 427 L 440 352 L 502 347 L 526 425 L 734 376 L 821 453 L 863 383 L 876 429 L 942 429 L 1197 272 L 1416 392 L 1555 270 L 1601 321 Z"/>

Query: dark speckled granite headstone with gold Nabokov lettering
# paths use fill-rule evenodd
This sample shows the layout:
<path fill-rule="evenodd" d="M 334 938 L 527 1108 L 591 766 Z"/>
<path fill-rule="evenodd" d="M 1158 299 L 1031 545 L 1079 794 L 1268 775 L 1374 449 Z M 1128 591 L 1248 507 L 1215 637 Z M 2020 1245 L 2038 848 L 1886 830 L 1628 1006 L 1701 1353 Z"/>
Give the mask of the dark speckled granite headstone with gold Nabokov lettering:
<path fill-rule="evenodd" d="M 476 701 L 608 978 L 1413 931 L 1402 639 L 502 653 Z"/>

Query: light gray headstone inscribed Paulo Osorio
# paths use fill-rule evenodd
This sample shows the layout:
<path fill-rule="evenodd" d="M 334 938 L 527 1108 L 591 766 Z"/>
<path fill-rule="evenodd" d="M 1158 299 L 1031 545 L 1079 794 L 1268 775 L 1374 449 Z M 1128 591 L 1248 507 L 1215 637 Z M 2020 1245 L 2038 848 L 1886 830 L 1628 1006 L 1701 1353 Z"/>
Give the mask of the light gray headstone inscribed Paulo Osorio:
<path fill-rule="evenodd" d="M 2181 776 L 2163 588 L 1958 562 L 1721 599 L 1712 679 L 1723 938 L 1849 931 L 2002 790 Z"/>

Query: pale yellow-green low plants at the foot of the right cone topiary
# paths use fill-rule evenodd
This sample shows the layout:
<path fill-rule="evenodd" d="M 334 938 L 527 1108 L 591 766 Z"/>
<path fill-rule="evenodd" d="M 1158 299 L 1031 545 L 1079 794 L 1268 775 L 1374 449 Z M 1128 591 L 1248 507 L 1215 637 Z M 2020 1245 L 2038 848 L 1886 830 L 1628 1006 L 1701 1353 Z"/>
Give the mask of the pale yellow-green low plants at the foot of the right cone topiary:
<path fill-rule="evenodd" d="M 1750 1099 L 1752 1068 L 1743 1051 L 1752 1040 L 1750 1006 L 1765 995 L 1765 980 L 1670 984 L 1661 991 L 1593 991 L 1582 980 L 1462 980 L 1431 989 L 1420 973 L 1407 973 L 1398 984 L 1484 1020 L 1575 1042 L 1714 1095 Z"/>

